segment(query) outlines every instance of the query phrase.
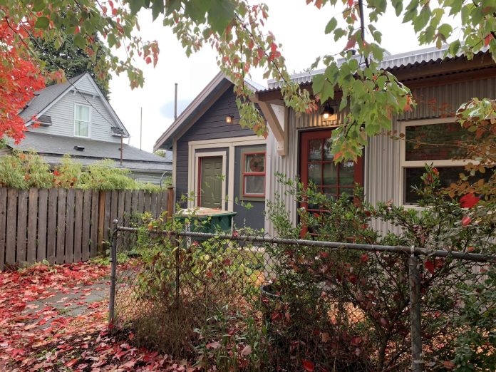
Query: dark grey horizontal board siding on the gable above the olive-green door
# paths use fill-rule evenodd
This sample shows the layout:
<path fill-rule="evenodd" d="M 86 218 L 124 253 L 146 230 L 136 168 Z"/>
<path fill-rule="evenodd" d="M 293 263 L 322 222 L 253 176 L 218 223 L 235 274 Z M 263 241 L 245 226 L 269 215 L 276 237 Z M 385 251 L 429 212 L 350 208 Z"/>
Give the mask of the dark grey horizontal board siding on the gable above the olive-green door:
<path fill-rule="evenodd" d="M 226 116 L 233 115 L 234 123 L 226 123 Z M 180 138 L 177 138 L 176 150 L 176 198 L 188 193 L 188 143 L 197 140 L 212 140 L 216 138 L 233 138 L 253 135 L 249 128 L 241 128 L 236 97 L 229 87 L 219 99 L 192 125 Z M 220 145 L 222 146 L 222 145 Z M 220 147 L 219 146 L 219 147 Z"/>

